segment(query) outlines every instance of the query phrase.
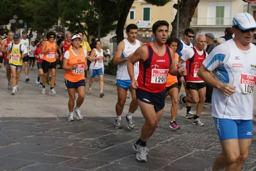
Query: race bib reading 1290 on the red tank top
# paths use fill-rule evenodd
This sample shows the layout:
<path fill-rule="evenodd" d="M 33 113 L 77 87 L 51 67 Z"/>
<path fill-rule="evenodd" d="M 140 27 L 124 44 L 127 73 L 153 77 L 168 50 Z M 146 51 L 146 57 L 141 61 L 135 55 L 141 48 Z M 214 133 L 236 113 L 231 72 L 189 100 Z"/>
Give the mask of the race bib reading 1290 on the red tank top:
<path fill-rule="evenodd" d="M 166 77 L 169 69 L 152 69 L 151 83 L 163 84 L 166 83 Z"/>

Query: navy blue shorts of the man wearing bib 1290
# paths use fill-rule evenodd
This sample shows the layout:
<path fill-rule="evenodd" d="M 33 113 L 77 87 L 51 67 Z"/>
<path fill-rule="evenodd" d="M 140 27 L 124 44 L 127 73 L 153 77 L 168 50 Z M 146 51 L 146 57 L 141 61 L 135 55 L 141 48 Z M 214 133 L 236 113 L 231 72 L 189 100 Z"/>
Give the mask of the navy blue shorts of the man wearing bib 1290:
<path fill-rule="evenodd" d="M 164 109 L 164 104 L 166 100 L 166 90 L 154 94 L 137 88 L 136 96 L 137 99 L 139 99 L 142 102 L 153 104 L 156 112 Z"/>

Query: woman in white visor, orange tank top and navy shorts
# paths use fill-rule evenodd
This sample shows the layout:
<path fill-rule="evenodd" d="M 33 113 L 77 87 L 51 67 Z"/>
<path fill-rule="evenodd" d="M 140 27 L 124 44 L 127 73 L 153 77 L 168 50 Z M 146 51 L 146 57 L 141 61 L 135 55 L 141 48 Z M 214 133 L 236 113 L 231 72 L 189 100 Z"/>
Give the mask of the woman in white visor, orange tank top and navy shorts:
<path fill-rule="evenodd" d="M 87 67 L 87 51 L 80 47 L 82 38 L 80 35 L 73 35 L 71 38 L 72 48 L 66 51 L 62 61 L 62 69 L 65 70 L 65 79 L 67 80 L 67 92 L 69 93 L 69 117 L 68 121 L 74 121 L 73 111 L 76 118 L 81 120 L 80 106 L 85 99 L 85 70 Z M 76 99 L 76 107 L 74 108 L 74 99 Z"/>

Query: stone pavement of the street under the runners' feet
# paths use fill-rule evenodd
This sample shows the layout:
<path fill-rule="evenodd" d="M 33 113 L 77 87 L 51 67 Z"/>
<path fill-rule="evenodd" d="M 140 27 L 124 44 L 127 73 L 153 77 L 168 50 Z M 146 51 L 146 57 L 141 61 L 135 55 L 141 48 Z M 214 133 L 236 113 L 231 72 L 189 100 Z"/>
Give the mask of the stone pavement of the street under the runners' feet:
<path fill-rule="evenodd" d="M 95 81 L 92 95 L 86 95 L 81 106 L 83 120 L 67 122 L 63 70 L 57 73 L 56 95 L 40 94 L 36 74 L 37 70 L 30 70 L 26 83 L 22 71 L 18 93 L 10 95 L 5 72 L 0 70 L 0 170 L 204 170 L 221 151 L 209 106 L 200 117 L 204 127 L 186 120 L 183 109 L 177 115 L 181 129 L 171 131 L 171 102 L 167 97 L 160 127 L 148 140 L 148 162 L 139 162 L 132 145 L 144 119 L 138 109 L 133 117 L 135 128 L 126 127 L 124 117 L 131 101 L 127 99 L 124 129 L 114 128 L 115 77 L 105 76 L 103 98 L 99 98 L 99 83 Z M 46 90 L 49 92 L 49 85 Z M 255 136 L 243 170 L 256 170 Z"/>

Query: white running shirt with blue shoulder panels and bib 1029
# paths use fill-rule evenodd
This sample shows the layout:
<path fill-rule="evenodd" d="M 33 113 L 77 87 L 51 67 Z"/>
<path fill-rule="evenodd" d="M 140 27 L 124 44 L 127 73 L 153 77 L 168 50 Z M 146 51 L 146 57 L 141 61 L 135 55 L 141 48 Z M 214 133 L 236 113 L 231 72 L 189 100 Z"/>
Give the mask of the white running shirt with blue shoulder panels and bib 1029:
<path fill-rule="evenodd" d="M 212 92 L 212 116 L 233 120 L 252 120 L 253 87 L 256 81 L 256 47 L 248 51 L 237 48 L 233 39 L 215 47 L 203 61 L 206 69 L 222 83 L 235 86 L 235 93 L 226 97 L 220 90 Z"/>

